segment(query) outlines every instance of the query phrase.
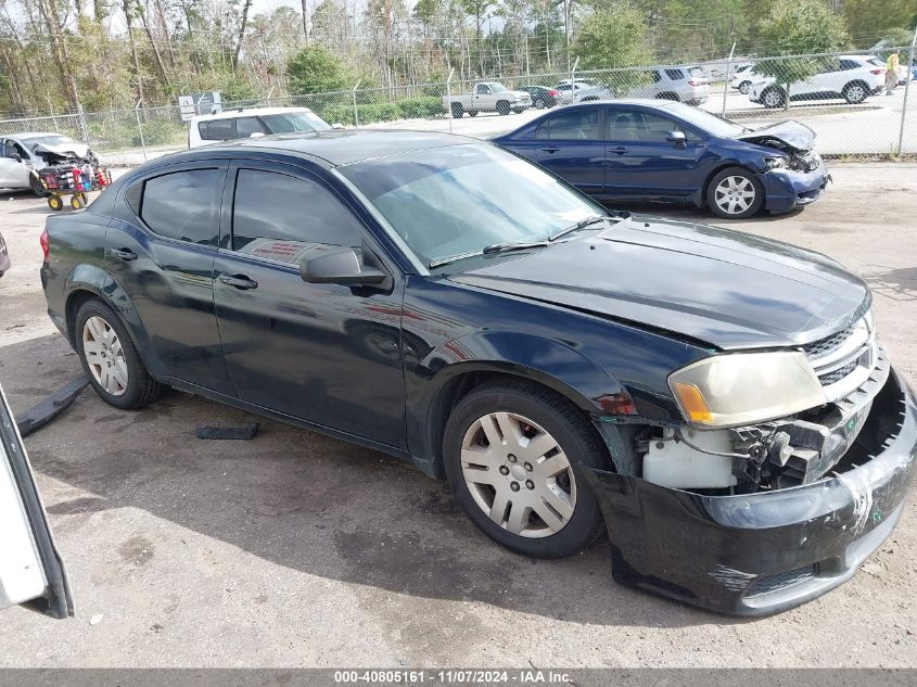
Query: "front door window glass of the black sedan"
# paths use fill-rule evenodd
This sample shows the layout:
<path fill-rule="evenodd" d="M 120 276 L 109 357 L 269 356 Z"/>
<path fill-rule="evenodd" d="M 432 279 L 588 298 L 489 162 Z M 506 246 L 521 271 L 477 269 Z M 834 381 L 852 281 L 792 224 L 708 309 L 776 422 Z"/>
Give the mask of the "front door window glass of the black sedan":
<path fill-rule="evenodd" d="M 359 222 L 317 181 L 240 169 L 232 212 L 232 250 L 296 262 L 310 244 L 359 247 Z"/>

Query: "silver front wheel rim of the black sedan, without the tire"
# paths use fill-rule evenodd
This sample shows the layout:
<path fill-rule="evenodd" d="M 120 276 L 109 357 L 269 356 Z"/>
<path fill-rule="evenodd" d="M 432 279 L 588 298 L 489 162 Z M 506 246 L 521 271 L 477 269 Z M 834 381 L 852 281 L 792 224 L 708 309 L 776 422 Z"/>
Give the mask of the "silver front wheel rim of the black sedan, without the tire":
<path fill-rule="evenodd" d="M 570 461 L 553 436 L 521 415 L 475 420 L 461 443 L 461 472 L 474 502 L 512 534 L 557 534 L 576 507 Z"/>

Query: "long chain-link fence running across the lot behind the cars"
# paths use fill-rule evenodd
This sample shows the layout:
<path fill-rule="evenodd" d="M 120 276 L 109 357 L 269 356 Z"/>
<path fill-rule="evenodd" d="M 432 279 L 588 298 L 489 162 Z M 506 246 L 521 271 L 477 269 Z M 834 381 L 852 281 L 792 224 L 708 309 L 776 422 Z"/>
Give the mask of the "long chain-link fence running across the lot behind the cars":
<path fill-rule="evenodd" d="M 886 60 L 900 54 L 889 77 Z M 881 54 L 826 53 L 791 58 L 730 58 L 706 64 L 667 64 L 555 74 L 450 80 L 230 101 L 222 110 L 309 107 L 329 124 L 453 131 L 488 137 L 520 126 L 545 109 L 599 99 L 678 100 L 748 128 L 797 119 L 817 136 L 823 154 L 917 153 L 917 86 L 912 48 Z M 517 101 L 525 91 L 532 105 Z M 479 116 L 480 115 L 480 116 Z M 177 105 L 0 120 L 0 135 L 54 131 L 86 141 L 111 165 L 136 165 L 188 145 L 188 123 Z"/>

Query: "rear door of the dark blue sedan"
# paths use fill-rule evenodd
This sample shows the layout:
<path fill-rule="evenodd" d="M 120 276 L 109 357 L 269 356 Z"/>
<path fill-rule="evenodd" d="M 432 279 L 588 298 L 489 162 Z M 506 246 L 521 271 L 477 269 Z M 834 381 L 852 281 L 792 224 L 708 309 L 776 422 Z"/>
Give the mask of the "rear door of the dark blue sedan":
<path fill-rule="evenodd" d="M 538 163 L 577 189 L 601 195 L 604 189 L 602 111 L 571 107 L 546 117 L 535 130 Z"/>

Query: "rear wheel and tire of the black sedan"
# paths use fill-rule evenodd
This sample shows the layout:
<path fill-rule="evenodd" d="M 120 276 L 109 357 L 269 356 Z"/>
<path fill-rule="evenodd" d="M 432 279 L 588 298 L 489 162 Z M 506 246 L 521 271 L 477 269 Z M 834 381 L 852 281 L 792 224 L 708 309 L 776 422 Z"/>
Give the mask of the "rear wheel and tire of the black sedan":
<path fill-rule="evenodd" d="M 76 314 L 75 326 L 82 371 L 102 400 L 136 410 L 163 394 L 166 387 L 150 377 L 127 329 L 109 305 L 98 298 L 87 301 Z"/>

